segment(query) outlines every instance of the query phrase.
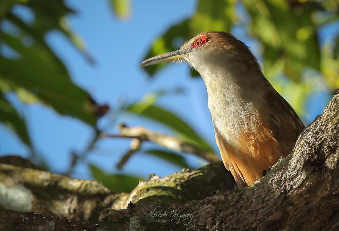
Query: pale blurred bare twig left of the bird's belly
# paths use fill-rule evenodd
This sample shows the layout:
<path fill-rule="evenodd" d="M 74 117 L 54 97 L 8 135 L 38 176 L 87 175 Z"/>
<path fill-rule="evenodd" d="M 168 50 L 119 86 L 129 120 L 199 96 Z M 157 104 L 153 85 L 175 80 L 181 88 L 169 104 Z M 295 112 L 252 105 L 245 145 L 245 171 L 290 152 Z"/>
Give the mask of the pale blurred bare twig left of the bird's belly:
<path fill-rule="evenodd" d="M 120 130 L 119 135 L 110 135 L 106 133 L 101 133 L 100 136 L 102 138 L 104 137 L 110 137 L 110 138 L 136 138 L 137 140 L 142 143 L 143 141 L 151 141 L 153 143 L 156 143 L 162 147 L 177 151 L 177 152 L 183 152 L 183 153 L 192 153 L 196 156 L 199 156 L 200 158 L 203 158 L 209 162 L 217 162 L 220 161 L 220 159 L 217 157 L 216 154 L 212 152 L 207 152 L 203 149 L 200 149 L 199 147 L 184 142 L 183 140 L 173 137 L 164 135 L 162 133 L 154 132 L 151 130 L 148 130 L 144 127 L 127 127 L 124 124 L 118 125 L 118 129 Z M 140 146 L 139 146 L 140 148 Z M 130 150 L 131 151 L 131 150 Z M 135 153 L 134 151 L 133 153 Z M 133 154 L 132 153 L 132 154 Z M 124 155 L 123 159 L 127 156 L 128 152 Z M 129 154 L 128 158 L 132 155 Z M 124 160 L 125 162 L 127 161 Z M 122 162 L 122 160 L 119 162 L 119 164 Z M 124 163 L 125 163 L 124 162 Z M 118 164 L 118 165 L 119 165 Z M 120 165 L 119 165 L 120 166 Z"/>

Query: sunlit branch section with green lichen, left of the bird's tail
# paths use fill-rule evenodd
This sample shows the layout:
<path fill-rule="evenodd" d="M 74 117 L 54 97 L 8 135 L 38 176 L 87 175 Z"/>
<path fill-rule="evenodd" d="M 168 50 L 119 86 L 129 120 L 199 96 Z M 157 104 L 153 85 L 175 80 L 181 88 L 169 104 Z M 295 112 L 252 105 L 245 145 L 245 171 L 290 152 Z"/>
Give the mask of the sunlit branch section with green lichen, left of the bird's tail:
<path fill-rule="evenodd" d="M 204 187 L 201 187 L 204 185 Z M 197 170 L 183 170 L 167 177 L 152 176 L 139 184 L 125 201 L 117 201 L 114 209 L 124 209 L 132 201 L 134 204 L 168 205 L 201 199 L 213 191 L 235 189 L 232 175 L 225 170 L 223 163 L 211 163 Z"/>

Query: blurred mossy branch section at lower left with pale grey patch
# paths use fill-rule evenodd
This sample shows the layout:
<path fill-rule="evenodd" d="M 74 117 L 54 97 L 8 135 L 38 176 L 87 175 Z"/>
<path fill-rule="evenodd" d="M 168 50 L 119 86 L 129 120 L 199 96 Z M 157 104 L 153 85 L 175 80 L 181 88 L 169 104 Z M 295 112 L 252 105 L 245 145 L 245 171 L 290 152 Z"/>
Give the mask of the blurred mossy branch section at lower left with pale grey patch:
<path fill-rule="evenodd" d="M 97 222 L 118 196 L 94 180 L 0 164 L 0 204 L 7 209 Z"/>

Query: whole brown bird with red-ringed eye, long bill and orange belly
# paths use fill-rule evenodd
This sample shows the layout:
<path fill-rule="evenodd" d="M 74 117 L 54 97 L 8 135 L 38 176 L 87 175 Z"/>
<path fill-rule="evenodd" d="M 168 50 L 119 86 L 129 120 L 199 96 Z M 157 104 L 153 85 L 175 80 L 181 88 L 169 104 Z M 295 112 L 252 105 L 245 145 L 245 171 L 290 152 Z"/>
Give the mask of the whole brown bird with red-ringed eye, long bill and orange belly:
<path fill-rule="evenodd" d="M 140 67 L 168 61 L 188 63 L 205 82 L 221 159 L 239 189 L 292 151 L 304 124 L 242 41 L 225 32 L 203 32 Z"/>

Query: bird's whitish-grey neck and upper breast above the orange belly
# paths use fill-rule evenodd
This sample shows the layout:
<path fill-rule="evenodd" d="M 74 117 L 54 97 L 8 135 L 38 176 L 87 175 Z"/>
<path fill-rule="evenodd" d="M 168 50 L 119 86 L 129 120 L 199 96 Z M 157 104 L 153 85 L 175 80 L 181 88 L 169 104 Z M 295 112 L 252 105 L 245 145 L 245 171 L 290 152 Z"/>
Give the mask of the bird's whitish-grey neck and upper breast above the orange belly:
<path fill-rule="evenodd" d="M 266 84 L 267 80 L 261 71 L 249 70 L 241 62 L 201 65 L 196 69 L 205 82 L 208 108 L 216 129 L 225 133 L 225 137 L 233 137 L 253 127 L 250 121 L 264 107 L 264 92 L 259 91 L 262 89 L 259 84 Z"/>

